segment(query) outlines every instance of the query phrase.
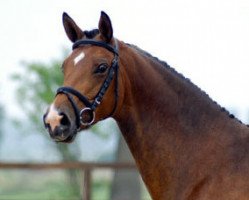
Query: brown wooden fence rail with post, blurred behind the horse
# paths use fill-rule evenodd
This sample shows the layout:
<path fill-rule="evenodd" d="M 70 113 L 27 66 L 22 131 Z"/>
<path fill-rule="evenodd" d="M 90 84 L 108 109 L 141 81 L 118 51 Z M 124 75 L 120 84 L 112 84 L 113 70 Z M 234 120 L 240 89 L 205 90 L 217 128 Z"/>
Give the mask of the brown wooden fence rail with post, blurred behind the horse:
<path fill-rule="evenodd" d="M 84 173 L 82 200 L 91 200 L 91 174 L 94 169 L 136 169 L 133 163 L 93 163 L 93 162 L 64 162 L 64 163 L 2 163 L 0 169 L 80 169 Z"/>

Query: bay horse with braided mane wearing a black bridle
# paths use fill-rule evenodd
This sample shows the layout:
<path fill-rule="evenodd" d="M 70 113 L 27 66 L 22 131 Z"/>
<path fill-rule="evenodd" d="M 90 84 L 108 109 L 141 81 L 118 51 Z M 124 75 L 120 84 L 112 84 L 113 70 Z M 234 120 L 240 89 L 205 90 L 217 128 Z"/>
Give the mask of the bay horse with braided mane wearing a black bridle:
<path fill-rule="evenodd" d="M 113 117 L 154 200 L 249 199 L 246 125 L 167 63 L 116 39 L 106 13 L 91 31 L 66 13 L 63 25 L 73 51 L 44 115 L 55 141 Z"/>

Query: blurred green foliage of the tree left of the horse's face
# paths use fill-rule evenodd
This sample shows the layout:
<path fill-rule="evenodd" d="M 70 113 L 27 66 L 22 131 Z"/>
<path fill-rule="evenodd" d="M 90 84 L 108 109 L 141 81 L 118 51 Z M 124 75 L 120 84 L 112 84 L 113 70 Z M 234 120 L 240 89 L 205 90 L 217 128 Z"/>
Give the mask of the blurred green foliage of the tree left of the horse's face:
<path fill-rule="evenodd" d="M 56 89 L 62 84 L 61 62 L 51 64 L 23 63 L 23 72 L 12 75 L 18 82 L 17 100 L 35 125 L 41 125 L 41 115 L 54 99 Z"/>

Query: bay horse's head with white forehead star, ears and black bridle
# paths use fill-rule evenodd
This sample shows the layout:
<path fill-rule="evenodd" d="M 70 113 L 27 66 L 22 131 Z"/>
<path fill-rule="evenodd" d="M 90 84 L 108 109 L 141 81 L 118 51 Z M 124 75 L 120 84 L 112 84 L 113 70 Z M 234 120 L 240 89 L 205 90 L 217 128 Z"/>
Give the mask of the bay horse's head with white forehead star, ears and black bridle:
<path fill-rule="evenodd" d="M 66 13 L 63 25 L 73 51 L 63 62 L 63 87 L 45 113 L 44 124 L 55 141 L 71 142 L 78 131 L 116 111 L 118 49 L 104 12 L 98 29 L 82 31 Z"/>

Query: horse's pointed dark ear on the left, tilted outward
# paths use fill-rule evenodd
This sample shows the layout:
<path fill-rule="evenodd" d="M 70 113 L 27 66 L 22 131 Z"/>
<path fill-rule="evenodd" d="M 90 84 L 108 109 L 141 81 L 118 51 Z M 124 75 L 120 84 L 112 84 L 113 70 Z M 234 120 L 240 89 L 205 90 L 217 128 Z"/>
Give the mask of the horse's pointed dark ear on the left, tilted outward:
<path fill-rule="evenodd" d="M 73 43 L 84 37 L 84 32 L 78 27 L 74 20 L 69 17 L 67 13 L 62 15 L 63 26 L 66 31 L 67 37 Z"/>

